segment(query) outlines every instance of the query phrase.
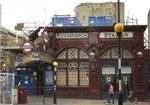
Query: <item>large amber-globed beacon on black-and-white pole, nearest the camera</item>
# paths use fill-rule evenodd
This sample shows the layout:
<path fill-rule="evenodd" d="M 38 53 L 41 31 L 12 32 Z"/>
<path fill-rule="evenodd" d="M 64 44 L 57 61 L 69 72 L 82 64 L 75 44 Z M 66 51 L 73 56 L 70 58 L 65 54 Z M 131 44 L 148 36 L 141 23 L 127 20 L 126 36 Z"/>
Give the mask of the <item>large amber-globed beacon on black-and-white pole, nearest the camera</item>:
<path fill-rule="evenodd" d="M 124 31 L 124 26 L 122 23 L 117 23 L 114 26 L 114 30 L 116 32 L 118 38 L 118 105 L 122 105 L 122 81 L 121 81 L 121 36 Z"/>

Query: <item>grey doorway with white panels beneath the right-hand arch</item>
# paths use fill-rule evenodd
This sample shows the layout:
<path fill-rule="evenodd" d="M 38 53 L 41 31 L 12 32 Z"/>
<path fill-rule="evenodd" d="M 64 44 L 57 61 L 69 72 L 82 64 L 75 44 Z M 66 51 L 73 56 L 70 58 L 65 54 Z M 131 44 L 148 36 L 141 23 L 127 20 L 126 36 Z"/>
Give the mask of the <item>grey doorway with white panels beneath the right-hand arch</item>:
<path fill-rule="evenodd" d="M 118 80 L 117 80 L 117 67 L 115 66 L 103 66 L 101 69 L 101 97 L 106 98 L 107 96 L 107 86 L 111 81 L 114 85 L 115 97 L 117 97 L 118 92 Z M 132 80 L 132 69 L 130 66 L 123 66 L 121 68 L 122 72 L 122 89 L 125 91 L 126 95 L 132 91 L 133 80 Z"/>

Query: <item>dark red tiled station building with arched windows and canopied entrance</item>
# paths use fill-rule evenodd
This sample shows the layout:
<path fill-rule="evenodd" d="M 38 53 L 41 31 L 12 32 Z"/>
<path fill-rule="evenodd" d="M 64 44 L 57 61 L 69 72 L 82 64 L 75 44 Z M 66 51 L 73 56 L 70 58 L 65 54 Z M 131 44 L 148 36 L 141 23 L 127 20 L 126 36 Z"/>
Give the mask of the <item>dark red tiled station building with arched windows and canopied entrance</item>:
<path fill-rule="evenodd" d="M 150 51 L 144 46 L 146 25 L 124 26 L 121 38 L 122 81 L 141 100 L 150 97 Z M 106 85 L 118 84 L 118 39 L 113 26 L 45 27 L 48 44 L 40 43 L 38 28 L 30 35 L 33 49 L 16 65 L 29 95 L 52 94 L 57 61 L 57 95 L 103 98 Z M 45 88 L 46 87 L 46 88 Z M 140 97 L 139 97 L 140 96 Z"/>

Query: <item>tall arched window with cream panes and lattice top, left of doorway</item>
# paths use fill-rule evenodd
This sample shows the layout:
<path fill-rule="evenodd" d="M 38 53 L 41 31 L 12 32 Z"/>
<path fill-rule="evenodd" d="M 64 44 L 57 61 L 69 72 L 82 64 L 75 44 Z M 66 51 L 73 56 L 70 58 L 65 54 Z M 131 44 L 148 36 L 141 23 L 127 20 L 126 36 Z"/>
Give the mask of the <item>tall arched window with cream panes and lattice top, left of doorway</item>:
<path fill-rule="evenodd" d="M 76 47 L 64 49 L 58 56 L 57 85 L 88 86 L 89 62 L 85 51 Z"/>

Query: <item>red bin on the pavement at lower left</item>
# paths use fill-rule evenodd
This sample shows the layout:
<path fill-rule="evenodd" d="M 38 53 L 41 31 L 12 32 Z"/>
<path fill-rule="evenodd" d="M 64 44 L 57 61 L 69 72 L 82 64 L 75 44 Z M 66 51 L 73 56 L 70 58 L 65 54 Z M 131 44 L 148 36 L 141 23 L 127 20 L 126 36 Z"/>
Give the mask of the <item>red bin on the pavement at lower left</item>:
<path fill-rule="evenodd" d="M 27 90 L 23 87 L 18 88 L 18 104 L 27 103 Z"/>

